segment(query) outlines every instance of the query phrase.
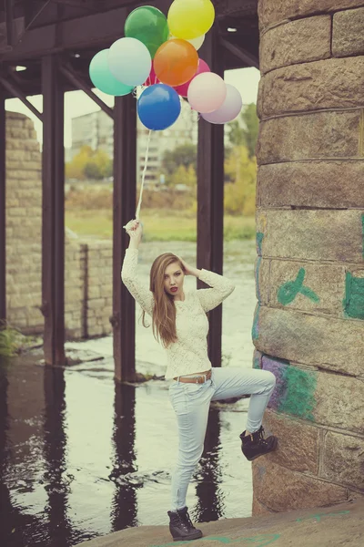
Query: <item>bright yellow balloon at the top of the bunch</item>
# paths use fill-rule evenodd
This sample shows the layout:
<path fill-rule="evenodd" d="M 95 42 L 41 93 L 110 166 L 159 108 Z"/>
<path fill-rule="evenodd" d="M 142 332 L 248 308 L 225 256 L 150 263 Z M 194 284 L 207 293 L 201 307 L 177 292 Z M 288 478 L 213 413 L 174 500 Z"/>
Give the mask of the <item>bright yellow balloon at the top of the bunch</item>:
<path fill-rule="evenodd" d="M 175 0 L 169 8 L 169 31 L 177 38 L 191 40 L 213 26 L 215 7 L 210 0 Z"/>

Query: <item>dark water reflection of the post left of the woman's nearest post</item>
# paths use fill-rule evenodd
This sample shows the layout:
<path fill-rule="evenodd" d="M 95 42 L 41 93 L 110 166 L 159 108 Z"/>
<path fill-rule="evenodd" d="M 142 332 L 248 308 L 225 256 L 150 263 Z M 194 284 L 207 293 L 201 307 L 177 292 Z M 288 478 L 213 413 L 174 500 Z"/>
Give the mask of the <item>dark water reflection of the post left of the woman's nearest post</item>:
<path fill-rule="evenodd" d="M 67 517 L 69 487 L 66 481 L 65 371 L 45 366 L 44 387 L 44 479 L 48 494 L 45 513 L 48 515 L 52 545 L 68 547 L 72 543 L 71 524 Z"/>

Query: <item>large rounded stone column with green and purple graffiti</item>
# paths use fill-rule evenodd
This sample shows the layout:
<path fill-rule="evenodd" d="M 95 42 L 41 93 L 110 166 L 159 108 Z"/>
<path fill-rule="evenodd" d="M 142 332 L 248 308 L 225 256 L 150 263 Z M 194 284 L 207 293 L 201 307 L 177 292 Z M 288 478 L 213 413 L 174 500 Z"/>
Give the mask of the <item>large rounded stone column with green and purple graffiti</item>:
<path fill-rule="evenodd" d="M 364 0 L 260 0 L 255 514 L 364 494 Z"/>

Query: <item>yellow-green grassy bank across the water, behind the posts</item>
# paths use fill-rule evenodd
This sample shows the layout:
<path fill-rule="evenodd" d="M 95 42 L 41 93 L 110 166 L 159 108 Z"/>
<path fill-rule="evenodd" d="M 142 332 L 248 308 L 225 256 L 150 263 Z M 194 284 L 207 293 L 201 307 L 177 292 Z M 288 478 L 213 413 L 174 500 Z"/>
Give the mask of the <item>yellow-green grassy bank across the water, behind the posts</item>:
<path fill-rule="evenodd" d="M 186 212 L 146 210 L 142 214 L 145 241 L 196 242 L 196 218 Z M 109 210 L 66 211 L 66 226 L 79 237 L 109 239 L 112 236 L 112 212 Z M 255 237 L 254 217 L 225 216 L 224 237 L 252 239 Z"/>

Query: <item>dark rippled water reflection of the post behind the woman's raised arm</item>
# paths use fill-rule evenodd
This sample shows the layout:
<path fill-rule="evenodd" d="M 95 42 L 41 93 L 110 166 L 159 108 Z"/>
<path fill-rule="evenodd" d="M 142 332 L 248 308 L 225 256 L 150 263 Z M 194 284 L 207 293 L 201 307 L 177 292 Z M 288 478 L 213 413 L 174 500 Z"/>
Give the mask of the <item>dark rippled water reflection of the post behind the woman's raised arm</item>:
<path fill-rule="evenodd" d="M 110 479 L 115 481 L 116 493 L 112 505 L 112 532 L 136 526 L 136 487 L 126 480 L 127 473 L 136 471 L 134 453 L 136 427 L 136 388 L 115 383 L 115 418 L 113 448 L 114 469 Z"/>

